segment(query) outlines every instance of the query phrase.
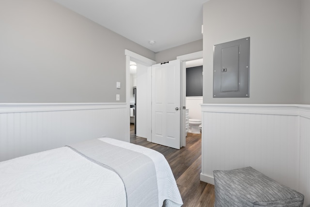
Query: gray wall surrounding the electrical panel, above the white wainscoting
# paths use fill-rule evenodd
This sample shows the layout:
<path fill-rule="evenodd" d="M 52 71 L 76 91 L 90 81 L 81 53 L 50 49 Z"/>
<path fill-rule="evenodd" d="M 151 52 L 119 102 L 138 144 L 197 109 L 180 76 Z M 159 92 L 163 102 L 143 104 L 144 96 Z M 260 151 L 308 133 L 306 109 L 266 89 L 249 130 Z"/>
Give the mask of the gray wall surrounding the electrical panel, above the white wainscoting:
<path fill-rule="evenodd" d="M 300 103 L 300 10 L 299 0 L 206 2 L 203 5 L 203 103 Z M 251 38 L 250 97 L 213 98 L 213 45 L 248 36 Z"/>

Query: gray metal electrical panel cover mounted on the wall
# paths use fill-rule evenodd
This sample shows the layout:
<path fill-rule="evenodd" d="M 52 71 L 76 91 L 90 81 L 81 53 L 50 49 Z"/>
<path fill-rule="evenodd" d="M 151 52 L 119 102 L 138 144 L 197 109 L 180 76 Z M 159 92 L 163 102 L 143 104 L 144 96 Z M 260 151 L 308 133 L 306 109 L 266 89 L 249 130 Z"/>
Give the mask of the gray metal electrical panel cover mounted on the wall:
<path fill-rule="evenodd" d="M 213 97 L 249 97 L 250 38 L 214 46 Z"/>

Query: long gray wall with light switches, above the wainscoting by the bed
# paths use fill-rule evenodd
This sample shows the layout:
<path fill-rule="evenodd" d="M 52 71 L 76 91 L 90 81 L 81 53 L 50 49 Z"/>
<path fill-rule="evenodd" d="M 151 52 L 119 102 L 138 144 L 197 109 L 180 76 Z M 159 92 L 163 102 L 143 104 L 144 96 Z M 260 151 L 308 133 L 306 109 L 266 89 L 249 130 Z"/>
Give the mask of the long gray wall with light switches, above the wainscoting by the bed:
<path fill-rule="evenodd" d="M 125 102 L 124 49 L 155 60 L 52 0 L 1 0 L 0 31 L 2 103 Z"/>

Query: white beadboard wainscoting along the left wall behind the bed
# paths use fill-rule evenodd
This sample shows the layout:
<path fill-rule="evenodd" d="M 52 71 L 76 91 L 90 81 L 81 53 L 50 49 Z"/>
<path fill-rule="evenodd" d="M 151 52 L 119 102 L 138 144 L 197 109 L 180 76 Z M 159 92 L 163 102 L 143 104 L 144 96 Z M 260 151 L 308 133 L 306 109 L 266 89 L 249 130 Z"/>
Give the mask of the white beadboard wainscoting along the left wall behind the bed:
<path fill-rule="evenodd" d="M 102 136 L 129 142 L 126 103 L 0 104 L 0 161 Z"/>

